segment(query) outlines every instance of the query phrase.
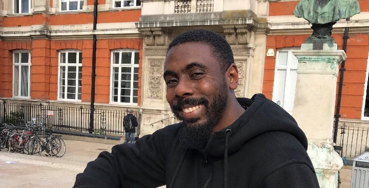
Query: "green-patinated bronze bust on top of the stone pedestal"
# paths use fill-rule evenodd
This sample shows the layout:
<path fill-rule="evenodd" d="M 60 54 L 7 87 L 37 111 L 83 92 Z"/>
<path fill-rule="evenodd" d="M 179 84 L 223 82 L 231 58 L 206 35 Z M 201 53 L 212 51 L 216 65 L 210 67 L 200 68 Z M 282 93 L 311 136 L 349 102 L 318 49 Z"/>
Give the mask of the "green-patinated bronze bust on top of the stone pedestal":
<path fill-rule="evenodd" d="M 332 27 L 336 21 L 358 13 L 360 6 L 357 0 L 303 0 L 293 12 L 296 17 L 303 17 L 312 23 L 313 34 L 309 38 L 332 38 Z"/>

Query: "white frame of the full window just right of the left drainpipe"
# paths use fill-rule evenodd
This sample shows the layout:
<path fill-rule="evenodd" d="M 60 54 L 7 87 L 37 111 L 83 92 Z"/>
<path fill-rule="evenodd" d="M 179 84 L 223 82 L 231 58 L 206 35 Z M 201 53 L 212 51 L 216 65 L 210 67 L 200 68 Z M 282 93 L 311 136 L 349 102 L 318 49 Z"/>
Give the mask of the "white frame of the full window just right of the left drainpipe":
<path fill-rule="evenodd" d="M 114 60 L 114 53 L 119 53 L 119 60 L 118 62 L 121 62 L 121 53 L 132 53 L 132 58 L 131 58 L 131 64 L 114 64 L 113 60 Z M 110 103 L 111 104 L 124 104 L 124 105 L 132 105 L 132 106 L 137 106 L 137 103 L 133 102 L 133 82 L 134 82 L 134 68 L 139 68 L 139 63 L 135 64 L 135 53 L 139 53 L 139 50 L 132 50 L 132 49 L 118 49 L 118 50 L 112 50 L 111 51 L 111 68 L 110 68 Z M 139 55 L 138 55 L 139 56 Z M 138 57 L 139 58 L 139 57 Z M 139 60 L 138 60 L 139 61 Z M 130 102 L 129 103 L 125 103 L 125 102 L 115 102 L 113 100 L 113 71 L 114 71 L 114 67 L 119 67 L 119 71 L 118 71 L 118 101 L 120 100 L 120 91 L 121 91 L 121 67 L 131 67 L 131 86 L 130 86 Z M 132 68 L 133 67 L 133 68 Z M 137 84 L 138 84 L 138 80 L 137 80 Z M 138 88 L 139 89 L 139 88 Z M 137 100 L 138 100 L 138 89 L 137 89 Z"/>

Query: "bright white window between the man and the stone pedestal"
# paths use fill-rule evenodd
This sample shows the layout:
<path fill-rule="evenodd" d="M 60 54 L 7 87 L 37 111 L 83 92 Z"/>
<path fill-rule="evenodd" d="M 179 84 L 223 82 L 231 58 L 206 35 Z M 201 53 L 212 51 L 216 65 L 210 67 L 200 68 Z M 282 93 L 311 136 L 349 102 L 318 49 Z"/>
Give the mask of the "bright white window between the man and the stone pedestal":
<path fill-rule="evenodd" d="M 277 51 L 273 101 L 292 114 L 297 80 L 297 58 L 291 50 Z M 297 49 L 296 49 L 297 50 Z"/>

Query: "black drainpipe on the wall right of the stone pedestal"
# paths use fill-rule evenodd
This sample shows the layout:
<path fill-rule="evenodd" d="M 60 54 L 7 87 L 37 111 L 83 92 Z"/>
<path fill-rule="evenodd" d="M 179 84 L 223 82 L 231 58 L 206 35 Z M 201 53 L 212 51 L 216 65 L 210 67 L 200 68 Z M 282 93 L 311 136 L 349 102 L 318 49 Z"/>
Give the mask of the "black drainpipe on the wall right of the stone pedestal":
<path fill-rule="evenodd" d="M 346 21 L 350 21 L 350 18 L 346 18 Z M 346 53 L 347 48 L 347 39 L 348 37 L 348 30 L 350 28 L 345 27 L 345 32 L 343 35 L 343 51 Z M 339 110 L 341 107 L 341 97 L 342 97 L 342 86 L 343 86 L 343 73 L 345 72 L 346 68 L 344 67 L 346 60 L 342 61 L 341 68 L 340 68 L 340 83 L 338 86 L 338 97 L 337 97 L 337 108 L 336 108 L 336 114 L 335 114 L 335 127 L 334 127 L 334 136 L 333 136 L 333 142 L 337 144 L 337 131 L 338 131 L 338 121 L 339 117 L 341 116 L 339 114 Z"/>

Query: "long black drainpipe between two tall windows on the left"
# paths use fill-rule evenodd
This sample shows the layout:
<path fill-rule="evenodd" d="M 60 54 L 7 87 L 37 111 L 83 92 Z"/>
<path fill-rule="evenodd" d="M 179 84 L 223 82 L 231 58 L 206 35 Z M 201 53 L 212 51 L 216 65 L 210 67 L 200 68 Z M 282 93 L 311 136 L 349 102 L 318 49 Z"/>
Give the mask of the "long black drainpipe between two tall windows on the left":
<path fill-rule="evenodd" d="M 97 25 L 97 0 L 94 0 L 94 23 L 93 30 L 96 31 Z M 96 34 L 93 34 L 93 43 L 92 43 L 92 75 L 91 75 L 91 113 L 90 113 L 90 128 L 89 132 L 92 133 L 94 131 L 94 111 L 95 111 L 95 77 L 96 77 Z"/>

